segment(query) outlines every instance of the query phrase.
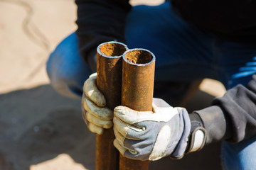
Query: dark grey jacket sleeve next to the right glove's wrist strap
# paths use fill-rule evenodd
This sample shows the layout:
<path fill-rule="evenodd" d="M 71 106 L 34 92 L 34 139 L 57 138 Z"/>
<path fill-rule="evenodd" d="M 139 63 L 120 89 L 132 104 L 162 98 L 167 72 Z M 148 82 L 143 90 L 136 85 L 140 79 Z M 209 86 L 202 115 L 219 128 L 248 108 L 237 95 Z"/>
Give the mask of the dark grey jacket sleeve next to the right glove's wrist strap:
<path fill-rule="evenodd" d="M 256 135 L 256 74 L 247 86 L 235 86 L 215 98 L 212 106 L 195 113 L 208 132 L 206 143 L 240 142 Z"/>

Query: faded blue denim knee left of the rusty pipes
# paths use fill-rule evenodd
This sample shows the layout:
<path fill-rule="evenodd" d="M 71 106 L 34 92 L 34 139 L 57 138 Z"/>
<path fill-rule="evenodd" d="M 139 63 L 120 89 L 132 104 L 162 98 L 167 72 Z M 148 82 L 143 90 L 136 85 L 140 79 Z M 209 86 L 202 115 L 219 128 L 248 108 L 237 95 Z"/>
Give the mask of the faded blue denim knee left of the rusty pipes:
<path fill-rule="evenodd" d="M 75 33 L 65 38 L 50 54 L 46 65 L 53 88 L 63 96 L 80 98 L 84 81 L 92 74 L 78 51 Z"/>

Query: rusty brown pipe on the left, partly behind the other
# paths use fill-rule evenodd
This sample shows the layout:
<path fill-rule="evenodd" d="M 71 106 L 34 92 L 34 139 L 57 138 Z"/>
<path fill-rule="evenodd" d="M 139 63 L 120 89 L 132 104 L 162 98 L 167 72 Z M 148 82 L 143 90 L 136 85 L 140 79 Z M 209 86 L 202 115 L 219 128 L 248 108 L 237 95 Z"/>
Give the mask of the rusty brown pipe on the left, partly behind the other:
<path fill-rule="evenodd" d="M 121 42 L 105 42 L 97 47 L 97 87 L 104 94 L 107 107 L 121 104 L 122 54 L 127 46 Z M 96 135 L 96 170 L 117 170 L 119 152 L 113 145 L 113 129 Z"/>

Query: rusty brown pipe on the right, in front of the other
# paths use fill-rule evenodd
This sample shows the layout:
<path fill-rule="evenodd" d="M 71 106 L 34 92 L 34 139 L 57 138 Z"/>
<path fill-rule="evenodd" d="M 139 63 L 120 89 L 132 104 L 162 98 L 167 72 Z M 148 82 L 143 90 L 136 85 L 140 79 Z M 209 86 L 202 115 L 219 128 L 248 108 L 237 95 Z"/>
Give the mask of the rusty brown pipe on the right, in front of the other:
<path fill-rule="evenodd" d="M 152 111 L 155 57 L 149 50 L 127 50 L 122 56 L 122 106 Z M 119 170 L 145 170 L 148 161 L 119 157 Z"/>

